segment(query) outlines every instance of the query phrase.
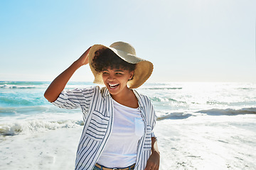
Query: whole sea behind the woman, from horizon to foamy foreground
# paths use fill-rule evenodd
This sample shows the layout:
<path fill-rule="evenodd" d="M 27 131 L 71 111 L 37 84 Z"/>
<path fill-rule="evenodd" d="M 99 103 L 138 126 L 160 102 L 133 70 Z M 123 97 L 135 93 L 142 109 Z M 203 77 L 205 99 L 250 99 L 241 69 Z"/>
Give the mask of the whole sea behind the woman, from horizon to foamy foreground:
<path fill-rule="evenodd" d="M 49 84 L 0 81 L 0 169 L 74 168 L 82 113 L 49 103 Z M 256 169 L 255 83 L 146 83 L 137 91 L 156 111 L 160 169 Z"/>

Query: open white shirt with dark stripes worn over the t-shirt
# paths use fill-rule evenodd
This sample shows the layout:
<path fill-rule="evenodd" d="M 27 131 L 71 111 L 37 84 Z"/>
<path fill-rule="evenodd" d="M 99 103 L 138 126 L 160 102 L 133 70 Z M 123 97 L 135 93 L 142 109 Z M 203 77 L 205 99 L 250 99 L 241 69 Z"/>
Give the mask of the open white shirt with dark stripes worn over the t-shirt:
<path fill-rule="evenodd" d="M 151 137 L 155 137 L 152 130 L 156 124 L 156 115 L 149 98 L 133 91 L 138 99 L 139 109 L 142 111 L 145 123 L 144 135 L 137 147 L 137 160 L 134 168 L 142 170 L 151 154 Z M 114 115 L 112 102 L 107 88 L 100 89 L 99 86 L 89 89 L 64 90 L 53 102 L 60 108 L 80 107 L 82 109 L 85 125 L 78 145 L 75 169 L 93 169 L 97 163 L 112 131 Z"/>

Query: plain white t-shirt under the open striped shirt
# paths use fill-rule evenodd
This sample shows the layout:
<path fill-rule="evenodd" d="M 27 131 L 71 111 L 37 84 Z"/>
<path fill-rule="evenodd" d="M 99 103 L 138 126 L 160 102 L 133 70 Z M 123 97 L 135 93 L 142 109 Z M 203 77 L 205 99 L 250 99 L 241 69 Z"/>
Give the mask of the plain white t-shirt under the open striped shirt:
<path fill-rule="evenodd" d="M 144 134 L 144 122 L 139 108 L 129 108 L 114 100 L 113 104 L 112 133 L 97 163 L 108 168 L 124 168 L 136 162 L 137 145 Z"/>

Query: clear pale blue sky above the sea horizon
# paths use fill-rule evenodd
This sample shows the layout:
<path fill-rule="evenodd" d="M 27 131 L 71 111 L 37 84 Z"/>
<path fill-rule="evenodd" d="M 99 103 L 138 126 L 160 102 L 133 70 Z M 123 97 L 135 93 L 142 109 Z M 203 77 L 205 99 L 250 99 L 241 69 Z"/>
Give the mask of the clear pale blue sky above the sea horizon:
<path fill-rule="evenodd" d="M 255 0 L 1 0 L 0 81 L 52 81 L 87 47 L 131 43 L 149 82 L 256 82 Z M 88 67 L 72 81 L 92 81 Z"/>

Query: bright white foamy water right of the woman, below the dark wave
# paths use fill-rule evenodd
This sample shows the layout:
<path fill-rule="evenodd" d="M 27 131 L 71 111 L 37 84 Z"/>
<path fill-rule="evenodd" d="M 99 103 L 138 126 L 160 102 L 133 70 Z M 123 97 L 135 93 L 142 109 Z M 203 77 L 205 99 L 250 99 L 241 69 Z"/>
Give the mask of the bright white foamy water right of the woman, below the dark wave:
<path fill-rule="evenodd" d="M 160 169 L 255 169 L 255 120 L 255 115 L 205 115 L 159 121 Z"/>

